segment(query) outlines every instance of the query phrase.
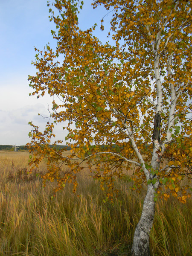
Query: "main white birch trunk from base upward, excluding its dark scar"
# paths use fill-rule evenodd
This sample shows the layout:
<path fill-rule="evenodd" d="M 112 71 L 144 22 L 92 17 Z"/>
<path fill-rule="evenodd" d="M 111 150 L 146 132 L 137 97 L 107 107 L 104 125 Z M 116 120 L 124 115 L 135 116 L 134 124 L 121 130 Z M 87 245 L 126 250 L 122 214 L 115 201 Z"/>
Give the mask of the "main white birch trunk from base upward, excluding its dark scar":
<path fill-rule="evenodd" d="M 158 47 L 160 44 L 160 34 L 157 36 L 156 49 L 153 47 L 154 52 L 154 73 L 155 80 L 157 86 L 157 105 L 156 105 L 156 113 L 161 113 L 162 108 L 162 85 L 160 80 L 160 71 L 159 71 L 159 56 L 158 56 Z M 155 45 L 155 44 L 154 44 Z M 153 170 L 159 170 L 160 167 L 160 159 L 158 155 L 158 150 L 160 148 L 160 142 L 158 140 L 153 141 L 153 154 L 151 159 L 151 166 Z M 150 179 L 157 177 L 156 175 L 149 174 Z M 147 193 L 145 195 L 145 200 L 143 203 L 143 210 L 141 214 L 141 218 L 134 232 L 134 239 L 132 245 L 132 256 L 150 256 L 149 249 L 149 237 L 151 228 L 153 226 L 154 221 L 154 193 L 155 189 L 159 186 L 159 181 L 153 185 L 152 183 L 147 186 Z"/>

